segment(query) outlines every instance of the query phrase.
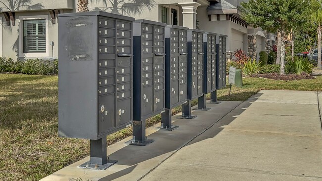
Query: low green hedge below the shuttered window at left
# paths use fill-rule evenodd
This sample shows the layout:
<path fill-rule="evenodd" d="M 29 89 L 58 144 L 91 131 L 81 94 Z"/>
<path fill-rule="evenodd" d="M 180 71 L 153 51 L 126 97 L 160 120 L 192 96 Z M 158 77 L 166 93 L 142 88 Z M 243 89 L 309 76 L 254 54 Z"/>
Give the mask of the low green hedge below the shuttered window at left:
<path fill-rule="evenodd" d="M 58 74 L 58 60 L 29 59 L 26 61 L 13 61 L 11 58 L 0 57 L 0 72 L 37 75 Z"/>

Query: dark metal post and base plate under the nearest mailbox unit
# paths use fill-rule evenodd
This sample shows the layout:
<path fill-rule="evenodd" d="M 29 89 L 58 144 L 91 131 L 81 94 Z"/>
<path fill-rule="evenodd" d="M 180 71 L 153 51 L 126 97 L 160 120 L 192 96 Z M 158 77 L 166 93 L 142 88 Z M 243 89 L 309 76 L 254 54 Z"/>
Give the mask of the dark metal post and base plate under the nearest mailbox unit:
<path fill-rule="evenodd" d="M 78 168 L 105 170 L 117 163 L 117 160 L 107 158 L 106 136 L 98 140 L 90 140 L 90 161 L 83 163 Z"/>

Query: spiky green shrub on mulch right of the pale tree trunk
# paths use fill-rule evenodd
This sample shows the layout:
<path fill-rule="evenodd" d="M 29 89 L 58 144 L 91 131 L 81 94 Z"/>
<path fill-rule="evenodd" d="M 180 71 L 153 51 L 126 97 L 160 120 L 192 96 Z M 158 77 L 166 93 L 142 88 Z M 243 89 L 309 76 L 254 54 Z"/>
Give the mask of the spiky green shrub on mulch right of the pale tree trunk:
<path fill-rule="evenodd" d="M 311 74 L 313 70 L 313 64 L 307 58 L 294 57 L 294 61 L 289 60 L 285 64 L 286 74 L 302 74 L 303 72 Z"/>

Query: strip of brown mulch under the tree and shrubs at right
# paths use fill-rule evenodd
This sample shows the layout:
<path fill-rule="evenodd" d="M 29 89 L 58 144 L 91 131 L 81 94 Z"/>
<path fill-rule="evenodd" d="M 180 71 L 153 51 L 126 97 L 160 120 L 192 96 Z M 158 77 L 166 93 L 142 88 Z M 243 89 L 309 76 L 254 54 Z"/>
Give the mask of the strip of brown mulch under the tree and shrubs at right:
<path fill-rule="evenodd" d="M 271 74 L 257 74 L 257 75 L 254 75 L 253 77 L 261 77 L 261 78 L 267 78 L 267 79 L 273 79 L 273 80 L 284 80 L 284 81 L 292 81 L 292 80 L 300 80 L 300 79 L 315 79 L 315 77 L 309 74 L 280 75 L 277 73 L 271 73 Z"/>

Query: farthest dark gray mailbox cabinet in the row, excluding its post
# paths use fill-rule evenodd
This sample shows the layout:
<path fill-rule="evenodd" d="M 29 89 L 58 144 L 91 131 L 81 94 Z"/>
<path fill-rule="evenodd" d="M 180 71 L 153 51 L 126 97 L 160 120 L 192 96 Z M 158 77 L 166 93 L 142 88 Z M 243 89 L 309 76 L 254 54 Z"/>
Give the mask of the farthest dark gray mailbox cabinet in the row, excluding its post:
<path fill-rule="evenodd" d="M 226 86 L 227 35 L 217 35 L 217 89 Z"/>

